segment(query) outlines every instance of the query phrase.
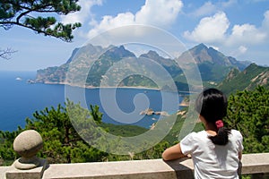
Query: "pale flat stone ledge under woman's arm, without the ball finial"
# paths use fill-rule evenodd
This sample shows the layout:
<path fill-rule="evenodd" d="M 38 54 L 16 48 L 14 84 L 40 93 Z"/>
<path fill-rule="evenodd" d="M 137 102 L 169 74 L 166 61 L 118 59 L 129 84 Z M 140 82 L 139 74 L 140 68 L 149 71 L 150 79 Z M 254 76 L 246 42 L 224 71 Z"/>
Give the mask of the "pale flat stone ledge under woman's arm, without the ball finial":
<path fill-rule="evenodd" d="M 181 158 L 164 162 L 162 159 L 132 160 L 120 162 L 93 162 L 76 164 L 52 164 L 44 171 L 43 179 L 193 179 L 193 162 Z M 31 171 L 31 170 L 30 170 Z M 28 172 L 30 172 L 28 171 Z M 245 174 L 269 173 L 269 153 L 245 154 L 239 171 Z M 0 167 L 0 173 L 12 173 L 11 166 Z M 17 171 L 18 172 L 18 171 Z M 0 175 L 2 176 L 2 175 Z M 6 175 L 8 176 L 8 175 Z M 19 174 L 18 174 L 19 176 Z M 6 177 L 10 179 L 11 177 Z"/>

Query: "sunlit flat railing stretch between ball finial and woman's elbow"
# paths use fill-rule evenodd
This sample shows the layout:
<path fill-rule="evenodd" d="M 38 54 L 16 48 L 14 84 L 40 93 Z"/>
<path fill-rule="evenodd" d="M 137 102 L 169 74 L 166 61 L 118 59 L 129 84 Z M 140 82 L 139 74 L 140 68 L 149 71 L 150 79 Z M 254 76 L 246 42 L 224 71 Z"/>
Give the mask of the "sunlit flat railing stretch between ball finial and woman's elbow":
<path fill-rule="evenodd" d="M 176 173 L 162 159 L 149 159 L 121 162 L 54 164 L 48 167 L 43 178 L 161 179 L 176 178 Z"/>

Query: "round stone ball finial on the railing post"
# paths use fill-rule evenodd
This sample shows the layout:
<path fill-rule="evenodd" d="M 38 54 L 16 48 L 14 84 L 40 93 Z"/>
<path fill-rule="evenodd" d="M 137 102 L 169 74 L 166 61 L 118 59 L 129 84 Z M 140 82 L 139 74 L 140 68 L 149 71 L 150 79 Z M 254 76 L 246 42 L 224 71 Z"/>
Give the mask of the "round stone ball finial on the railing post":
<path fill-rule="evenodd" d="M 22 156 L 14 162 L 18 169 L 30 169 L 39 166 L 40 159 L 36 154 L 43 147 L 43 140 L 39 132 L 27 130 L 21 132 L 13 141 L 13 149 Z"/>

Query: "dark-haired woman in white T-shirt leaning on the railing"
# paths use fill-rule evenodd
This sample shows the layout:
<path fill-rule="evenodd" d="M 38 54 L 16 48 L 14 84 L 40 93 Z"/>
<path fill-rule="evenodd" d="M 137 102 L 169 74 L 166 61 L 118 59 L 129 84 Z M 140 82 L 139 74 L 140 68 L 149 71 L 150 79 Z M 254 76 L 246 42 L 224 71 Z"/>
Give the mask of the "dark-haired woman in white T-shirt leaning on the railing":
<path fill-rule="evenodd" d="M 195 110 L 205 126 L 201 132 L 191 132 L 178 144 L 162 153 L 164 160 L 192 156 L 195 178 L 239 178 L 239 160 L 243 137 L 239 131 L 223 125 L 227 115 L 227 98 L 216 89 L 204 90 L 195 101 Z"/>

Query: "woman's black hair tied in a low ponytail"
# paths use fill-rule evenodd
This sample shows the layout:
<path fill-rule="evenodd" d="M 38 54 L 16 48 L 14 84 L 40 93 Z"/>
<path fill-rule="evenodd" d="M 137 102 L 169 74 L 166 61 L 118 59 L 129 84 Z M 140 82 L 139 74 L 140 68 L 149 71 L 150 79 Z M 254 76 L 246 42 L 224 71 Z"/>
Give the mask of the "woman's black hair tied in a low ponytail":
<path fill-rule="evenodd" d="M 217 89 L 204 90 L 195 101 L 195 110 L 204 117 L 207 123 L 215 124 L 216 121 L 222 120 L 227 115 L 227 98 Z M 216 125 L 216 124 L 215 124 Z M 217 145 L 226 145 L 230 129 L 221 127 L 217 135 L 209 138 Z"/>

